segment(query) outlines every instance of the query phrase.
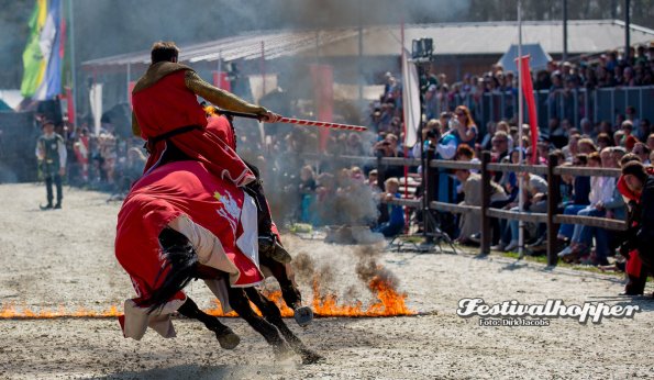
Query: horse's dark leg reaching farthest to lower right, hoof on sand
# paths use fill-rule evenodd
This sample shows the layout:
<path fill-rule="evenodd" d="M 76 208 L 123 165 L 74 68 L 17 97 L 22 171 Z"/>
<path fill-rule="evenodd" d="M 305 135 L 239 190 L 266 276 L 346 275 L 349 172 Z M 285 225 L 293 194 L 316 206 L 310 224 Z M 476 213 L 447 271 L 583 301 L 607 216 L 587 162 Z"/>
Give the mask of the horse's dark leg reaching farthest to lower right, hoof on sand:
<path fill-rule="evenodd" d="M 300 340 L 300 338 L 297 337 L 293 332 L 290 331 L 290 328 L 288 328 L 286 323 L 284 323 L 284 320 L 281 320 L 281 313 L 279 312 L 279 308 L 277 308 L 275 302 L 265 298 L 255 288 L 246 288 L 245 293 L 247 294 L 247 298 L 261 310 L 266 321 L 270 322 L 279 329 L 293 351 L 301 356 L 302 364 L 310 365 L 324 359 L 322 356 L 307 348 L 302 340 Z"/>

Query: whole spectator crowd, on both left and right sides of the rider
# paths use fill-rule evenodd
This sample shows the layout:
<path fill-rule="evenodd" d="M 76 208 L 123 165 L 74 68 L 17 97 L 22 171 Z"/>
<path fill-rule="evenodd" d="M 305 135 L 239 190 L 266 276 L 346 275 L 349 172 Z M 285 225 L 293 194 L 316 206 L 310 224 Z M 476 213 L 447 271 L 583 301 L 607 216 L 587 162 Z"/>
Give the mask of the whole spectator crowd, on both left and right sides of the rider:
<path fill-rule="evenodd" d="M 536 90 L 566 91 L 576 88 L 631 87 L 653 85 L 654 45 L 641 46 L 622 59 L 608 52 L 576 64 L 551 62 L 545 70 L 533 72 Z M 435 158 L 478 161 L 489 150 L 495 163 L 520 163 L 535 156 L 537 165 L 551 157 L 557 165 L 620 168 L 630 160 L 650 165 L 654 160 L 654 130 L 635 107 L 624 109 L 617 120 L 579 121 L 553 116 L 541 126 L 540 138 L 531 146 L 529 125 L 519 126 L 516 112 L 508 118 L 478 125 L 474 110 L 461 102 L 465 94 L 476 97 L 494 91 L 517 92 L 517 77 L 494 66 L 480 76 L 466 75 L 450 86 L 444 75 L 429 69 L 421 77 L 424 121 L 421 144 L 403 146 L 402 86 L 387 72 L 384 93 L 365 112 L 369 132 L 315 130 L 276 125 L 265 130 L 247 120 L 235 122 L 239 154 L 256 165 L 269 194 L 278 222 L 313 225 L 368 225 L 385 236 L 420 228 L 425 215 L 392 202 L 398 198 L 423 197 L 422 168 L 378 165 L 379 157 L 421 158 L 431 149 Z M 469 104 L 468 104 L 469 105 Z M 297 105 L 291 111 L 311 118 L 311 110 Z M 337 115 L 336 115 L 336 120 Z M 343 120 L 345 122 L 356 122 Z M 522 127 L 522 150 L 520 149 Z M 124 194 L 142 174 L 145 155 L 140 138 L 120 138 L 110 126 L 91 135 L 87 125 L 59 132 L 69 149 L 69 181 Z M 322 152 L 325 155 L 317 154 Z M 325 158 L 326 157 L 326 158 Z M 523 181 L 524 212 L 544 212 L 547 205 L 547 178 L 529 172 L 496 172 L 491 183 L 491 208 L 518 211 L 519 182 Z M 563 176 L 558 204 L 561 214 L 624 219 L 627 206 L 618 192 L 617 178 Z M 474 170 L 437 171 L 437 188 L 431 190 L 440 202 L 480 205 L 480 175 Z M 479 243 L 478 217 L 435 213 L 439 227 L 461 244 Z M 518 248 L 519 224 L 492 220 L 492 245 L 499 250 Z M 545 226 L 525 224 L 528 248 L 545 248 Z M 614 256 L 612 234 L 603 228 L 562 225 L 558 231 L 559 256 L 570 262 L 597 266 Z"/>

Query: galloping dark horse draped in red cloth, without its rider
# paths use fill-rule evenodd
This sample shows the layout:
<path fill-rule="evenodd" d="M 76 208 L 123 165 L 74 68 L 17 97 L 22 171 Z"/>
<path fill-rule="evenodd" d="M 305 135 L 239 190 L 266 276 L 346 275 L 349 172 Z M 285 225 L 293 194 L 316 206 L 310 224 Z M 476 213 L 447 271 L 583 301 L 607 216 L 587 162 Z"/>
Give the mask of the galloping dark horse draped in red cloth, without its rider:
<path fill-rule="evenodd" d="M 215 178 L 199 161 L 166 163 L 132 187 L 118 220 L 115 255 L 136 292 L 120 320 L 125 337 L 140 339 L 147 326 L 174 337 L 170 315 L 179 312 L 202 322 L 222 348 L 235 348 L 239 336 L 182 292 L 191 280 L 203 279 L 223 310 L 233 309 L 262 334 L 277 359 L 297 354 L 303 364 L 323 360 L 255 288 L 264 281 L 256 204 L 241 188 Z"/>

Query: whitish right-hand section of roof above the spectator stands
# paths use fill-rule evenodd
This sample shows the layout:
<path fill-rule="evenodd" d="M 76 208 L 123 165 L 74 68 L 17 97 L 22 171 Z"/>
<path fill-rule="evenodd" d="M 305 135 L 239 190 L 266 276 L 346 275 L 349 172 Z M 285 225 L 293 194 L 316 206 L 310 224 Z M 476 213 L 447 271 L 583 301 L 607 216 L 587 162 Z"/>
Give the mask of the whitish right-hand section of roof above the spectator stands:
<path fill-rule="evenodd" d="M 568 54 L 600 53 L 624 45 L 624 23 L 618 20 L 568 21 Z M 630 25 L 632 45 L 654 41 L 654 30 Z M 518 44 L 518 23 L 445 23 L 404 27 L 404 46 L 411 41 L 431 37 L 436 55 L 502 55 Z M 398 55 L 400 27 L 375 26 L 364 32 L 364 55 Z M 562 21 L 526 21 L 522 23 L 522 43 L 540 44 L 548 54 L 563 53 Z M 322 55 L 356 55 L 356 37 L 322 47 Z"/>

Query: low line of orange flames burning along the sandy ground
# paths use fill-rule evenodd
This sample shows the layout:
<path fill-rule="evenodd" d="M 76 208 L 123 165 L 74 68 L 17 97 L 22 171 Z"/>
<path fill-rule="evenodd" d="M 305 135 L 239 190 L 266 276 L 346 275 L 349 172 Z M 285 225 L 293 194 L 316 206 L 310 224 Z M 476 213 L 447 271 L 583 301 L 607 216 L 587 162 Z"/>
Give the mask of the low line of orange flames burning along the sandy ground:
<path fill-rule="evenodd" d="M 315 316 L 347 316 L 347 317 L 363 317 L 363 316 L 401 316 L 414 315 L 415 312 L 406 305 L 407 294 L 399 293 L 391 281 L 383 276 L 375 276 L 368 282 L 368 290 L 376 297 L 376 301 L 364 306 L 362 301 L 355 301 L 352 304 L 339 303 L 339 297 L 334 293 L 323 294 L 320 287 L 320 277 L 314 276 L 312 281 L 313 298 L 309 302 L 313 309 Z M 281 297 L 281 291 L 266 292 L 266 297 L 274 301 L 281 312 L 281 316 L 291 317 L 293 311 L 289 309 Z M 214 300 L 215 305 L 206 312 L 214 316 L 239 316 L 235 312 L 224 313 L 218 300 Z M 261 315 L 261 312 L 253 305 L 253 309 Z M 85 308 L 79 308 L 75 311 L 66 311 L 64 306 L 58 306 L 56 310 L 42 309 L 34 311 L 27 306 L 16 308 L 14 304 L 5 304 L 0 308 L 0 320 L 42 320 L 42 318 L 103 318 L 115 317 L 122 315 L 122 308 L 112 305 L 107 310 L 97 311 Z"/>

